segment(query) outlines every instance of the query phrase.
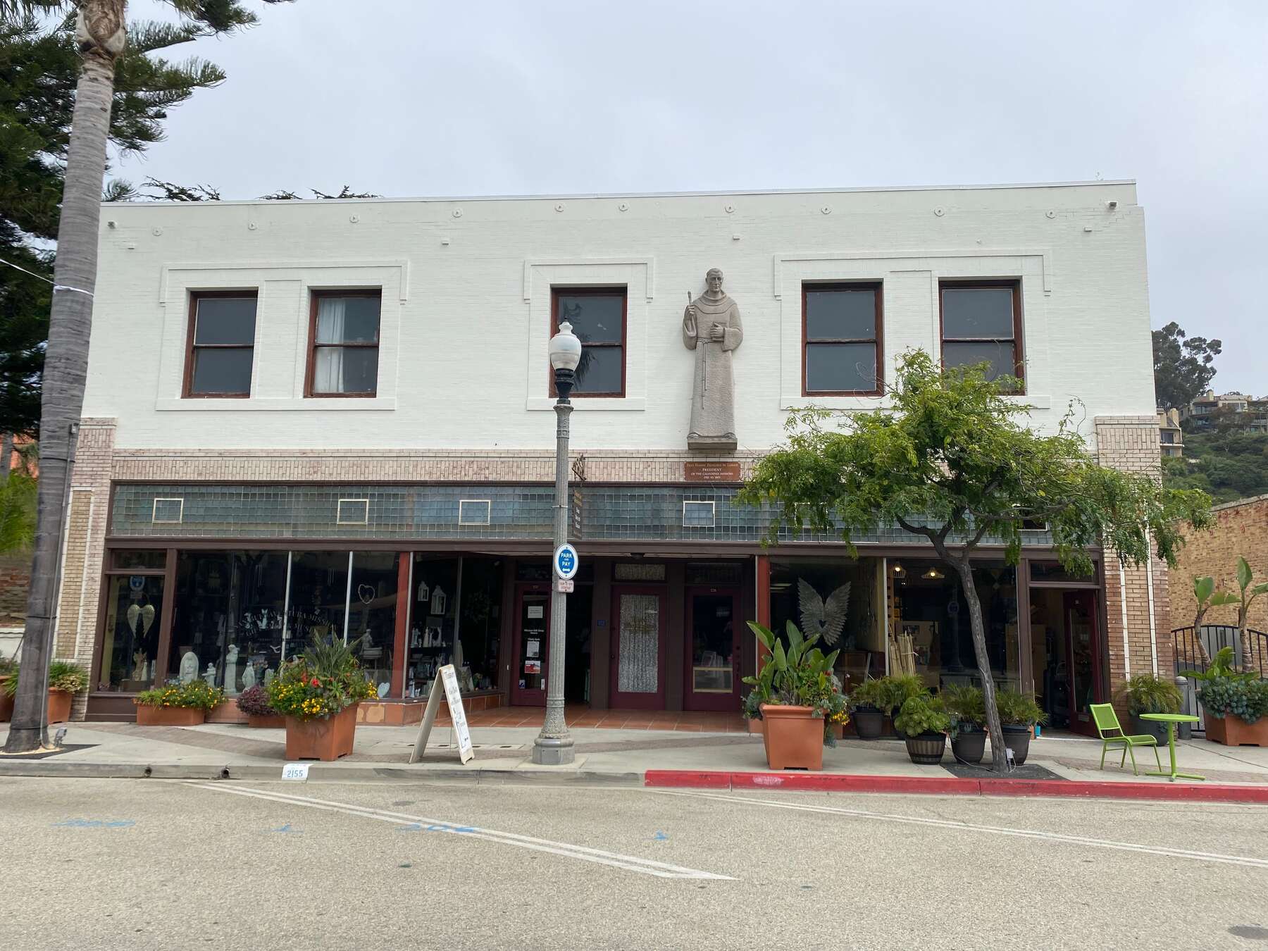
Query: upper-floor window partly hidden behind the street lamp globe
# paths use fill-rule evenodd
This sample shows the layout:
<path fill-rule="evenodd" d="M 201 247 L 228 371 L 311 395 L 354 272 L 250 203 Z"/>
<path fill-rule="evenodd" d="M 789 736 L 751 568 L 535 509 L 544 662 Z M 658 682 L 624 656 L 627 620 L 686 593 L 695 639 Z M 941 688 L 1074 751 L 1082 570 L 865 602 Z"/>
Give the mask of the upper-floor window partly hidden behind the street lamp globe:
<path fill-rule="evenodd" d="M 625 288 L 552 288 L 550 335 L 564 321 L 581 340 L 572 396 L 625 396 Z M 554 396 L 554 375 L 550 377 Z"/>

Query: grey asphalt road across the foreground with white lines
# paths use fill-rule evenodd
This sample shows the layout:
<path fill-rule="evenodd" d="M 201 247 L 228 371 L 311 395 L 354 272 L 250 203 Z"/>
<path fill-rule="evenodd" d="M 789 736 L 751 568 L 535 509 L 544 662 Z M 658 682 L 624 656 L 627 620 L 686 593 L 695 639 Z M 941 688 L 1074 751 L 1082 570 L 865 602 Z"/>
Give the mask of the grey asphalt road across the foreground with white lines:
<path fill-rule="evenodd" d="M 1268 948 L 1268 808 L 0 780 L 6 948 Z"/>

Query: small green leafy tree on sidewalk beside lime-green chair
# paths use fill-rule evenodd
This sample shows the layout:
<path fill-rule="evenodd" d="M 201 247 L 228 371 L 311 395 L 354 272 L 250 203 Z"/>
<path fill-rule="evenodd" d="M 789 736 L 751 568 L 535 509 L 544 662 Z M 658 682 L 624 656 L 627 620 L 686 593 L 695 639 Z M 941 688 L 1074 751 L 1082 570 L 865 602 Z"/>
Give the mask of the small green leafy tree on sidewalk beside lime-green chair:
<path fill-rule="evenodd" d="M 852 539 L 898 526 L 928 541 L 955 571 L 969 606 L 994 768 L 1006 768 L 995 685 L 971 557 L 987 540 L 1021 555 L 1025 521 L 1046 522 L 1066 569 L 1092 571 L 1089 545 L 1125 563 L 1151 553 L 1174 563 L 1182 525 L 1206 526 L 1202 492 L 1170 491 L 1145 474 L 1106 468 L 1073 429 L 1051 435 L 1025 425 L 1027 407 L 1006 393 L 1017 380 L 988 380 L 984 366 L 943 372 L 924 351 L 903 354 L 891 408 L 829 429 L 823 410 L 794 412 L 784 445 L 766 455 L 739 493 L 771 506 L 770 539 L 804 527 Z"/>

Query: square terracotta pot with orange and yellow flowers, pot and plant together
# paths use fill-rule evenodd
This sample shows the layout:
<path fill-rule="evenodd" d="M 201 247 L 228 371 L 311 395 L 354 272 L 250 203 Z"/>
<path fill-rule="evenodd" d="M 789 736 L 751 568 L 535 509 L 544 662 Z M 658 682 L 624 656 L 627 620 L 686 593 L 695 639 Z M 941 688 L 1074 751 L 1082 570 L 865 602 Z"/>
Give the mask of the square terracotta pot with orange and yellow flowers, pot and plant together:
<path fill-rule="evenodd" d="M 378 696 L 356 661 L 360 640 L 313 635 L 269 682 L 269 705 L 285 718 L 288 760 L 337 760 L 353 752 L 356 705 Z"/>

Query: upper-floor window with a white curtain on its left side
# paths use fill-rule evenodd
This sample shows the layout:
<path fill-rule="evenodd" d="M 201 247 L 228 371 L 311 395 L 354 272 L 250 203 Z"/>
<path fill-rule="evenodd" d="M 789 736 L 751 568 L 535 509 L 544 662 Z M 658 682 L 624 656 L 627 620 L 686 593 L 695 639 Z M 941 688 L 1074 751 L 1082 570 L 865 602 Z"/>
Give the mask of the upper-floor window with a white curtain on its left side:
<path fill-rule="evenodd" d="M 378 393 L 380 306 L 378 290 L 313 292 L 304 396 Z"/>

